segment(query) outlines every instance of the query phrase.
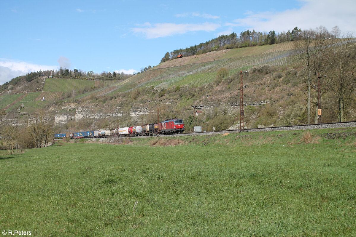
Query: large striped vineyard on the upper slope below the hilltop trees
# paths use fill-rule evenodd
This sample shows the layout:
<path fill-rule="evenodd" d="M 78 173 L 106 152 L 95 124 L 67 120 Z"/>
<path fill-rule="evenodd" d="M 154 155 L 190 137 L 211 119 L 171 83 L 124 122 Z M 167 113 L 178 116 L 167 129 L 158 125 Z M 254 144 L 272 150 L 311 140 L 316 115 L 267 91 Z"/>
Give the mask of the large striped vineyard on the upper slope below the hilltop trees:
<path fill-rule="evenodd" d="M 294 64 L 291 55 L 291 50 L 279 50 L 260 55 L 242 56 L 239 58 L 214 60 L 170 68 L 152 69 L 130 77 L 125 81 L 125 86 L 118 86 L 118 88 L 111 91 L 110 94 L 130 91 L 137 87 L 158 85 L 163 82 L 167 85 L 200 86 L 213 81 L 216 77 L 216 71 L 221 68 L 228 69 L 229 75 L 234 75 L 241 70 L 248 70 L 252 66 L 262 64 L 291 66 Z"/>

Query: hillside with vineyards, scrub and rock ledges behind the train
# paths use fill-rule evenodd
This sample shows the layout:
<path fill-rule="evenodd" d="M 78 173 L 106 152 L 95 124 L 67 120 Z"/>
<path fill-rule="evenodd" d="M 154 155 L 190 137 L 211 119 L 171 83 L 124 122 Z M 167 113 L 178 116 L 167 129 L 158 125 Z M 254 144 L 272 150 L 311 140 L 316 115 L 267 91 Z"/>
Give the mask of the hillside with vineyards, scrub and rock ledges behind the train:
<path fill-rule="evenodd" d="M 159 106 L 160 118 L 177 115 L 189 131 L 196 107 L 203 112 L 196 122 L 203 130 L 227 129 L 239 123 L 243 70 L 248 71 L 243 76 L 246 127 L 306 123 L 302 70 L 292 49 L 288 42 L 210 52 L 169 60 L 121 81 L 39 78 L 2 93 L 0 108 L 15 124 L 27 123 L 42 108 L 51 113 L 57 131 L 73 131 L 155 122 Z M 227 74 L 219 79 L 221 69 Z M 312 100 L 315 111 L 315 93 Z M 335 122 L 335 101 L 325 93 L 322 103 L 323 122 Z M 354 104 L 348 118 L 356 119 Z"/>

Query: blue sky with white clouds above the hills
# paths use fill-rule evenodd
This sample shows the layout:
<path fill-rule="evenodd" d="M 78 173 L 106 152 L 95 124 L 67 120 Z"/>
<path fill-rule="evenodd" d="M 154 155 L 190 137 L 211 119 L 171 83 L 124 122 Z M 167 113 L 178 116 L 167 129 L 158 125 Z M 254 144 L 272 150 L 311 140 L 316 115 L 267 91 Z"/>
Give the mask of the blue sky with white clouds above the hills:
<path fill-rule="evenodd" d="M 132 73 L 166 52 L 246 29 L 355 32 L 355 9 L 354 0 L 0 0 L 0 84 L 60 66 Z"/>

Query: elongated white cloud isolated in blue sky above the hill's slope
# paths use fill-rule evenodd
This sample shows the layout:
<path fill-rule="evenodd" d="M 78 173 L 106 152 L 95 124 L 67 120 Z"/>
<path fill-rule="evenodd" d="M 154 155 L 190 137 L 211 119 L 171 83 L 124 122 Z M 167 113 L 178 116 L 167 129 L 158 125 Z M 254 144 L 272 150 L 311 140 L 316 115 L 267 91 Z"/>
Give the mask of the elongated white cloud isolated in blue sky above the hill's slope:
<path fill-rule="evenodd" d="M 143 34 L 147 39 L 172 36 L 174 34 L 184 34 L 194 31 L 215 31 L 219 24 L 205 22 L 203 24 L 174 24 L 174 23 L 156 23 L 151 25 L 145 23 L 147 27 L 137 27 L 131 30 L 134 33 Z"/>

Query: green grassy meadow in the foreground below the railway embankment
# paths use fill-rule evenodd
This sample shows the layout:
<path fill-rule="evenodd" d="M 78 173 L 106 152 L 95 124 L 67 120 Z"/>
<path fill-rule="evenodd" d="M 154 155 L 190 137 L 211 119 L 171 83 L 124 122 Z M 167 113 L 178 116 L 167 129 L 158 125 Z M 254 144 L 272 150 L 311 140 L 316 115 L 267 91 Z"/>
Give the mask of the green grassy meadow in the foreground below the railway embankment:
<path fill-rule="evenodd" d="M 0 229 L 355 236 L 356 129 L 64 143 L 0 156 Z"/>

